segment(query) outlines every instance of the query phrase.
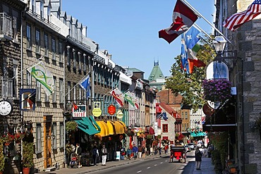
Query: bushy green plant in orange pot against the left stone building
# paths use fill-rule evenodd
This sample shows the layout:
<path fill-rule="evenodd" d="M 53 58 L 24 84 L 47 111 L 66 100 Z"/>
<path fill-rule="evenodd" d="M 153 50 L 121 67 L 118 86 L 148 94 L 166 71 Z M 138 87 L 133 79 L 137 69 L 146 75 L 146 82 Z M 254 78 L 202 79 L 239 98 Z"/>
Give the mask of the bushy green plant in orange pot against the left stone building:
<path fill-rule="evenodd" d="M 32 168 L 34 166 L 33 154 L 34 154 L 33 142 L 23 142 L 23 167 L 24 168 Z"/>

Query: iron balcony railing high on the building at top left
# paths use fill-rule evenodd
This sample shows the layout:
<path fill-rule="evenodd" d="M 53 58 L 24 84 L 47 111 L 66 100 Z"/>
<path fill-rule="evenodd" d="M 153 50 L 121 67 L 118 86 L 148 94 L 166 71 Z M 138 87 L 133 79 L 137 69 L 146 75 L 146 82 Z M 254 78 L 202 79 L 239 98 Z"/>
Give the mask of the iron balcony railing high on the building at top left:
<path fill-rule="evenodd" d="M 6 13 L 0 13 L 0 35 L 12 36 L 12 18 Z"/>

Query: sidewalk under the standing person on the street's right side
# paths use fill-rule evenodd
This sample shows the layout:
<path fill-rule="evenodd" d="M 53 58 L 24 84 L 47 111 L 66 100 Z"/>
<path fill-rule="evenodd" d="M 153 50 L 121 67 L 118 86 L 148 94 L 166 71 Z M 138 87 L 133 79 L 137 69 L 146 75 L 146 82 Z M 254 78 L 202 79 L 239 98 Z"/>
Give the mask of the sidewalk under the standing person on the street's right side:
<path fill-rule="evenodd" d="M 211 158 L 202 158 L 201 170 L 197 170 L 196 165 L 194 165 L 193 174 L 200 174 L 200 173 L 202 173 L 202 174 L 215 174 L 214 166 L 211 163 Z"/>

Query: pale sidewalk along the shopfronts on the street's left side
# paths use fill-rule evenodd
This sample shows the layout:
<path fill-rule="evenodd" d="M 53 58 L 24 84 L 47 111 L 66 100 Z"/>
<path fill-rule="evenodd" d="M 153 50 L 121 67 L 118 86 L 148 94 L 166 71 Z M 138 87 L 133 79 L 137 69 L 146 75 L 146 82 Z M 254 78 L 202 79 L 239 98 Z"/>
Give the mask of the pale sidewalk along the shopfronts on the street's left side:
<path fill-rule="evenodd" d="M 164 156 L 169 156 L 168 154 L 162 154 L 162 157 Z M 156 159 L 156 158 L 161 158 L 159 154 L 157 155 L 152 155 L 152 156 L 146 156 L 145 159 L 124 159 L 124 160 L 116 160 L 116 161 L 107 161 L 106 166 L 102 166 L 102 163 L 97 163 L 98 166 L 83 166 L 82 168 L 61 168 L 59 170 L 51 171 L 51 172 L 41 172 L 42 173 L 55 173 L 55 174 L 84 174 L 84 173 L 89 173 L 89 172 L 94 172 L 98 170 L 103 170 L 104 168 L 113 168 L 116 166 L 123 166 L 128 163 L 135 163 L 138 161 L 144 161 L 147 159 Z"/>

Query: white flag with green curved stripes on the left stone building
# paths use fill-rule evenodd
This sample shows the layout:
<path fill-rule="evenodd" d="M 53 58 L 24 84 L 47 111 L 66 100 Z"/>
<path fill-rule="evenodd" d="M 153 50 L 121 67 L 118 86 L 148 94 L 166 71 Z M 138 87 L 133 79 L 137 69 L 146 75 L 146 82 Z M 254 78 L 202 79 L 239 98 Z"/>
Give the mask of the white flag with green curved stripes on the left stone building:
<path fill-rule="evenodd" d="M 35 64 L 35 66 L 31 66 L 27 70 L 32 77 L 35 77 L 35 79 L 41 83 L 47 96 L 51 95 L 54 91 L 54 77 L 44 66 L 44 63 L 40 61 Z"/>

